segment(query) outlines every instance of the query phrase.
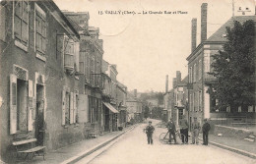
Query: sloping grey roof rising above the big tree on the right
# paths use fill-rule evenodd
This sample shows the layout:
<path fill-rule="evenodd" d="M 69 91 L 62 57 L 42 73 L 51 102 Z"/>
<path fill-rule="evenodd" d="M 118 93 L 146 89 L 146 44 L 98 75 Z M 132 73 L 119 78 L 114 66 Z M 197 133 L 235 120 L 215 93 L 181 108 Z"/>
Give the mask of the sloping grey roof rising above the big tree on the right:
<path fill-rule="evenodd" d="M 220 27 L 214 34 L 212 34 L 206 42 L 213 42 L 213 41 L 226 41 L 226 37 L 223 36 L 223 34 L 226 33 L 225 27 L 233 27 L 233 22 L 237 21 L 239 23 L 244 23 L 248 20 L 254 20 L 255 16 L 235 16 L 230 18 L 222 27 Z"/>

